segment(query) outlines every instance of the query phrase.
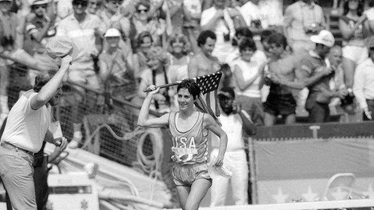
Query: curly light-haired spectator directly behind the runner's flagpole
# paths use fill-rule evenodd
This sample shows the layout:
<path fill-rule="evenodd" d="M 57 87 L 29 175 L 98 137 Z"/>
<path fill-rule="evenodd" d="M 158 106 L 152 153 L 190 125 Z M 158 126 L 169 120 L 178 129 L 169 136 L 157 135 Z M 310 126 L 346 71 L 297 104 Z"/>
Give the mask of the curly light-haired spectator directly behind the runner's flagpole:
<path fill-rule="evenodd" d="M 169 58 L 167 52 L 161 47 L 152 47 L 147 53 L 148 68 L 143 71 L 140 78 L 138 94 L 145 98 L 143 92 L 150 85 L 160 86 L 169 83 L 167 75 L 167 65 Z M 154 94 L 151 109 L 160 113 L 170 112 L 169 88 L 163 88 L 159 93 Z"/>

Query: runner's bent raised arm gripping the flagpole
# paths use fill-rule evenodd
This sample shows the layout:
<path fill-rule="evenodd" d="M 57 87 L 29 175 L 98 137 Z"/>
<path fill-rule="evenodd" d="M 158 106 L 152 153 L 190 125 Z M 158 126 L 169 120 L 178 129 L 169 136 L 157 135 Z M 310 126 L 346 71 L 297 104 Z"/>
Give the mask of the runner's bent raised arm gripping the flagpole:
<path fill-rule="evenodd" d="M 161 117 L 149 118 L 149 106 L 151 105 L 152 97 L 154 94 L 158 93 L 160 88 L 151 85 L 148 88 L 153 91 L 147 94 L 147 97 L 144 99 L 143 105 L 141 106 L 139 117 L 137 118 L 137 125 L 147 128 L 161 128 L 162 126 L 168 125 L 169 123 L 169 113 L 162 115 Z"/>

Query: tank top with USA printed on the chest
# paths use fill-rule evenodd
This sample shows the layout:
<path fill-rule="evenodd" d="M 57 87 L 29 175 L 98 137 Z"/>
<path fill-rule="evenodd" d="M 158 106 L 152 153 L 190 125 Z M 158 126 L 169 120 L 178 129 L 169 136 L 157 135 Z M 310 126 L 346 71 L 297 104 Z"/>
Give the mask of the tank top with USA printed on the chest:
<path fill-rule="evenodd" d="M 208 148 L 207 148 L 207 135 L 203 133 L 203 119 L 204 113 L 199 113 L 195 124 L 191 129 L 181 132 L 176 127 L 176 114 L 172 112 L 169 115 L 169 128 L 171 133 L 171 150 L 173 156 L 171 159 L 183 165 L 193 165 L 198 163 L 207 162 Z"/>

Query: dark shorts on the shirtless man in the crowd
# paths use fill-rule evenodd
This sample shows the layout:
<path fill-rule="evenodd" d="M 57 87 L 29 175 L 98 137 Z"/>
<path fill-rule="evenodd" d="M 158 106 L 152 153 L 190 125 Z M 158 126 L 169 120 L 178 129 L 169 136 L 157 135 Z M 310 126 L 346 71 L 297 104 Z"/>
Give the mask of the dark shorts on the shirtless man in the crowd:
<path fill-rule="evenodd" d="M 274 116 L 278 114 L 289 115 L 294 114 L 296 110 L 296 101 L 292 94 L 280 95 L 273 92 L 269 93 L 264 103 L 264 112 Z"/>

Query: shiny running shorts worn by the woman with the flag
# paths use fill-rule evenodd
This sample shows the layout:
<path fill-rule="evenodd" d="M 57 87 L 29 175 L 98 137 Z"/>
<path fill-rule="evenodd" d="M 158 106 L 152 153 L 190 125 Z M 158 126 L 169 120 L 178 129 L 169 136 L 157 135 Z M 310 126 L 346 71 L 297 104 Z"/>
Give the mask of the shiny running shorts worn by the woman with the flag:
<path fill-rule="evenodd" d="M 176 186 L 191 187 L 192 183 L 199 179 L 205 178 L 212 184 L 212 178 L 208 174 L 208 164 L 179 165 L 174 164 L 172 168 L 173 181 Z"/>

